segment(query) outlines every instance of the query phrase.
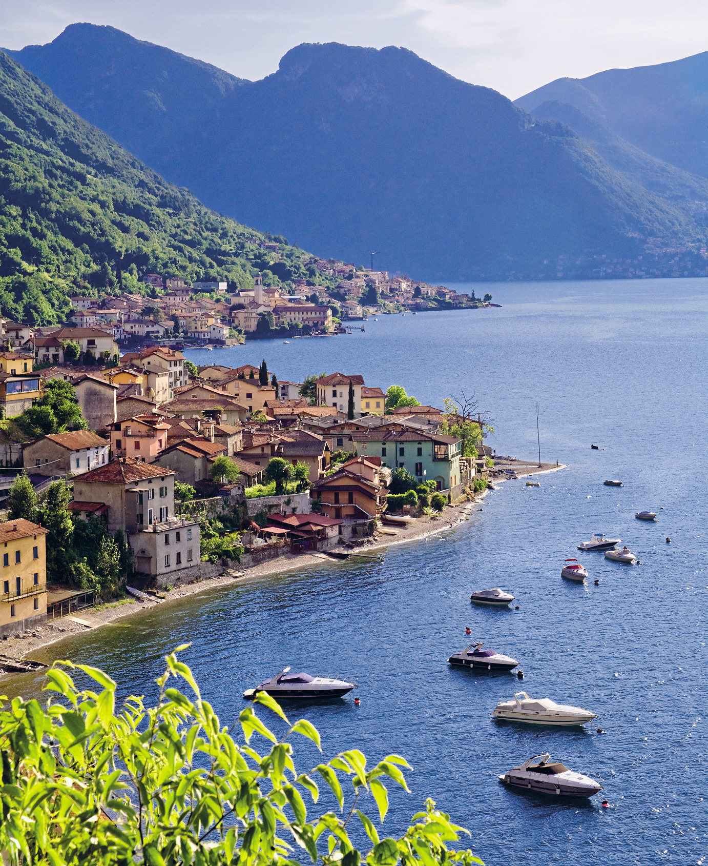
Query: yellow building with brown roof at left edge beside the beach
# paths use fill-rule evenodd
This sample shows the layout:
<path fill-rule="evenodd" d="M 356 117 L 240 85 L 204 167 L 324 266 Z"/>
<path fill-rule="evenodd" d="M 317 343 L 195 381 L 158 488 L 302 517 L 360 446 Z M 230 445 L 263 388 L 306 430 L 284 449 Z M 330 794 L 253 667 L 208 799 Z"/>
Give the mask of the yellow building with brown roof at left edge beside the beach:
<path fill-rule="evenodd" d="M 0 523 L 0 635 L 35 628 L 47 619 L 47 533 L 29 520 Z"/>

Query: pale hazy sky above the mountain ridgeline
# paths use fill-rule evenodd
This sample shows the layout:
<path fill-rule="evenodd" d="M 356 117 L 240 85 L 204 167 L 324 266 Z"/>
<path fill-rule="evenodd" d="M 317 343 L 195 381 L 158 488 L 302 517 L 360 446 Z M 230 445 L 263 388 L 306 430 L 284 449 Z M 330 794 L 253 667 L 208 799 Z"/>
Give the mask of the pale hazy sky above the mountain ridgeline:
<path fill-rule="evenodd" d="M 400 45 L 512 99 L 708 49 L 705 0 L 0 0 L 0 45 L 51 42 L 82 21 L 249 79 L 299 42 Z"/>

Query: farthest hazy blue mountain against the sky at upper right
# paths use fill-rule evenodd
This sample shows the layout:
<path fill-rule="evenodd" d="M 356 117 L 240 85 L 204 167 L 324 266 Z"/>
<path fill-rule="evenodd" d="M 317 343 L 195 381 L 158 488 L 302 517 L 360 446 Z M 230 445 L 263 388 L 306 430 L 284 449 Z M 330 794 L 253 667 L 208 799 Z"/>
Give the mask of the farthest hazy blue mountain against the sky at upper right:
<path fill-rule="evenodd" d="M 558 78 L 516 100 L 564 102 L 653 157 L 708 178 L 708 51 L 656 66 Z"/>

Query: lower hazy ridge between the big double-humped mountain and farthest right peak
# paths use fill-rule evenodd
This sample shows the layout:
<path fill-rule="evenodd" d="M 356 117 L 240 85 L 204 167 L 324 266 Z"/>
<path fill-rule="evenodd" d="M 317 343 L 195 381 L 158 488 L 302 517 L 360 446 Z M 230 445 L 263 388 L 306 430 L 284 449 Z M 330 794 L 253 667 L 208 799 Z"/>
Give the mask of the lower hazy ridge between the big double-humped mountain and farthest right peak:
<path fill-rule="evenodd" d="M 708 179 L 689 174 L 675 165 L 669 165 L 656 157 L 630 145 L 621 139 L 609 126 L 591 120 L 578 108 L 564 102 L 543 102 L 533 110 L 537 120 L 557 120 L 569 126 L 582 139 L 588 141 L 595 151 L 619 171 L 622 177 L 640 184 L 646 190 L 669 201 L 690 206 L 698 212 L 708 204 Z"/>

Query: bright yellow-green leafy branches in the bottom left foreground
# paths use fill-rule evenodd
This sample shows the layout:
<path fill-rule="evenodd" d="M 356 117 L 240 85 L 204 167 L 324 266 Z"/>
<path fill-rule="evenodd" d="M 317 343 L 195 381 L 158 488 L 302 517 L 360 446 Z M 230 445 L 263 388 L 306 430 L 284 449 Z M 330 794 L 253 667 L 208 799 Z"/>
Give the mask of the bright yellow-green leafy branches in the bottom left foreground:
<path fill-rule="evenodd" d="M 321 751 L 319 731 L 306 720 L 291 723 L 264 692 L 254 705 L 279 727 L 282 722 L 283 733 L 274 734 L 249 705 L 238 716 L 242 741 L 233 739 L 236 724 L 228 728 L 216 716 L 177 656 L 188 646 L 165 656 L 154 707 L 141 697 L 124 697 L 127 689 L 100 669 L 73 662 L 55 662 L 48 671 L 51 706 L 19 697 L 3 705 L 0 850 L 8 866 L 297 863 L 283 837 L 302 850 L 299 860 L 321 858 L 325 866 L 482 863 L 472 850 L 447 849 L 467 830 L 431 799 L 410 822 L 396 817 L 396 824 L 408 826 L 402 837 L 379 841 L 377 818 L 365 812 L 376 804 L 382 822 L 388 814 L 383 780 L 409 793 L 403 771 L 410 766 L 396 754 L 370 766 L 351 748 L 298 775 L 290 740 L 306 737 L 308 747 L 314 743 Z M 85 691 L 69 675 L 74 671 L 92 681 Z M 182 683 L 188 694 L 179 690 Z M 347 777 L 351 789 L 342 785 Z M 316 778 L 340 810 L 346 799 L 341 817 L 327 811 L 308 818 L 304 798 L 309 794 L 317 802 Z M 118 814 L 119 822 L 106 819 L 106 812 Z M 356 832 L 363 851 L 350 838 L 351 819 L 365 830 Z"/>

